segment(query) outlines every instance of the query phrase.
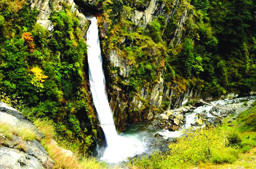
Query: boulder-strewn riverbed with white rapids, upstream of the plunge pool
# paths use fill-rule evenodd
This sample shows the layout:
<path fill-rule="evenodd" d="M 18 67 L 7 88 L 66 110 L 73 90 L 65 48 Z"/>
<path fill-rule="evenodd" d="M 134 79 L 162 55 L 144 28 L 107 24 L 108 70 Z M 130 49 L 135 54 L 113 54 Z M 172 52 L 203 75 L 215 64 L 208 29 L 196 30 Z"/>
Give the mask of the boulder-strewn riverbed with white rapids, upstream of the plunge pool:
<path fill-rule="evenodd" d="M 251 107 L 255 99 L 256 96 L 250 96 L 211 102 L 214 106 L 224 107 L 228 110 L 201 103 L 197 104 L 198 106 L 196 107 L 191 105 L 183 106 L 156 115 L 152 124 L 159 129 L 156 132 L 157 137 L 161 135 L 165 139 L 173 140 L 182 134 L 181 130 L 188 129 L 189 127 L 201 127 L 206 124 L 217 126 L 222 123 L 223 118 L 230 114 L 235 114 L 236 117 L 239 112 Z"/>

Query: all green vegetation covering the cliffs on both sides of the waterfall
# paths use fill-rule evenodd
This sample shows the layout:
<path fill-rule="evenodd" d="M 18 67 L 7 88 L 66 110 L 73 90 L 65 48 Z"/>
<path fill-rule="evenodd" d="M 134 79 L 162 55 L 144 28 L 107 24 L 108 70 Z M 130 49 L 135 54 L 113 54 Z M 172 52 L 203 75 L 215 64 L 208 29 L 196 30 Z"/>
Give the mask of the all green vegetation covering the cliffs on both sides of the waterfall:
<path fill-rule="evenodd" d="M 100 29 L 106 27 L 103 55 L 116 51 L 130 66 L 129 73 L 120 73 L 124 70 L 107 65 L 109 88 L 120 88 L 120 99 L 132 102 L 136 96 L 143 102 L 139 109 L 129 107 L 129 118 L 145 119 L 140 112 L 148 112 L 148 107 L 166 109 L 170 97 L 179 98 L 186 88 L 204 97 L 256 90 L 255 0 L 159 0 L 154 1 L 159 11 L 148 14 L 148 22 L 136 18 L 135 11 L 147 9 L 149 2 L 94 4 L 102 12 Z M 67 3 L 60 3 L 60 11 L 52 6 L 53 29 L 48 31 L 36 24 L 38 11 L 30 9 L 29 1 L 0 1 L 0 99 L 22 108 L 32 121 L 52 119 L 60 136 L 88 154 L 98 132 L 84 123 L 98 121 L 87 89 L 87 45 L 79 19 Z M 160 76 L 177 92 L 156 108 L 149 98 Z M 147 98 L 140 97 L 142 88 Z"/>

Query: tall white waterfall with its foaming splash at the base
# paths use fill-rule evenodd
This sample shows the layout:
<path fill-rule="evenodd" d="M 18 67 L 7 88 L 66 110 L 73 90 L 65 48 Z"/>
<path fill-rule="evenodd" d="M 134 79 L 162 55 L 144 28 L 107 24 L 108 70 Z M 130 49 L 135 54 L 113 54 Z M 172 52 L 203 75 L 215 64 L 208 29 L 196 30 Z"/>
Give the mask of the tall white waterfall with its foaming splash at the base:
<path fill-rule="evenodd" d="M 116 132 L 105 89 L 97 18 L 92 17 L 88 19 L 91 20 L 91 25 L 87 31 L 86 42 L 89 46 L 87 55 L 90 88 L 100 125 L 104 131 L 107 142 L 106 150 L 101 159 L 107 160 L 108 162 L 119 162 L 125 160 L 127 157 L 143 152 L 145 148 L 143 143 L 139 141 L 138 135 L 118 136 Z"/>

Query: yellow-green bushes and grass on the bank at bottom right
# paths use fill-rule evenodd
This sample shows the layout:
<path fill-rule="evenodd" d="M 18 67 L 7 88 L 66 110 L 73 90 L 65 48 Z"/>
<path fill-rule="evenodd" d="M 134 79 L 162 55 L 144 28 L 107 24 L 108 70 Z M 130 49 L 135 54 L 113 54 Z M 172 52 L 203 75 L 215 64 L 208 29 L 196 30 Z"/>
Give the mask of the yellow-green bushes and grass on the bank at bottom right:
<path fill-rule="evenodd" d="M 240 133 L 238 129 L 212 126 L 188 129 L 186 135 L 170 143 L 169 151 L 133 158 L 128 166 L 136 169 L 171 169 L 193 168 L 206 163 L 206 166 L 221 168 L 222 164 L 234 163 L 255 146 L 255 132 Z"/>

